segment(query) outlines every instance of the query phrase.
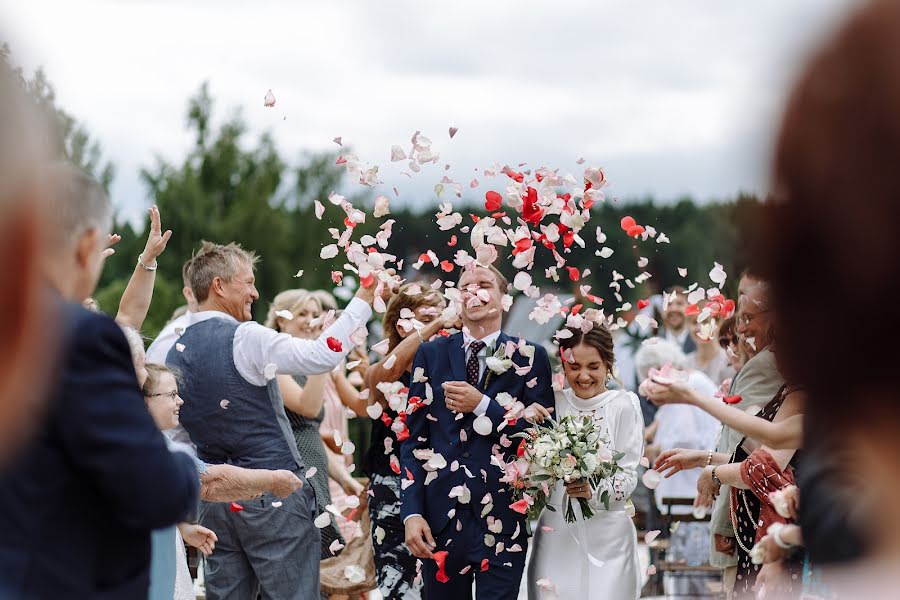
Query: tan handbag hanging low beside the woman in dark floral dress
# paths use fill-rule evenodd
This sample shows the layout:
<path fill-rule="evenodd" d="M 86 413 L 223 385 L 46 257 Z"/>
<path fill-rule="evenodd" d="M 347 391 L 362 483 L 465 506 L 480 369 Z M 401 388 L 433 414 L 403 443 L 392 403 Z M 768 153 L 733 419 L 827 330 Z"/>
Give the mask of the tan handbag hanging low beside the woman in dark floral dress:
<path fill-rule="evenodd" d="M 369 520 L 368 494 L 362 494 L 359 511 L 359 526 L 362 534 L 349 542 L 337 556 L 326 558 L 320 563 L 319 580 L 323 594 L 350 596 L 363 594 L 378 587 L 375 578 L 375 548 L 372 545 L 372 523 Z M 360 582 L 347 578 L 346 568 L 361 567 L 365 577 Z"/>

